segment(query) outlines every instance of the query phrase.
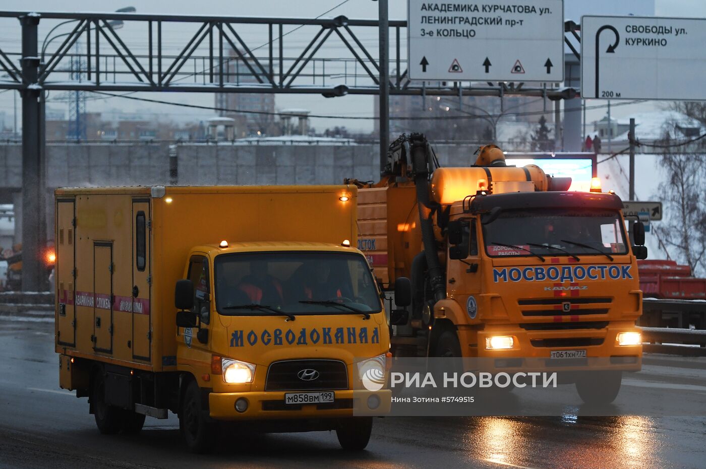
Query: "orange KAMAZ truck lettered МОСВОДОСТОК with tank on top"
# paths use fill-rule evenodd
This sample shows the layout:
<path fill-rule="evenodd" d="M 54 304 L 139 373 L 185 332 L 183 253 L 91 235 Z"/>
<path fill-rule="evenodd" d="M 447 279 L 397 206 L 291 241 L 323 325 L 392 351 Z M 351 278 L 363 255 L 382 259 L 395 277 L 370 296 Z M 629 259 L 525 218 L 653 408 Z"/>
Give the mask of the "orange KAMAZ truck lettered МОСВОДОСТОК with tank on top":
<path fill-rule="evenodd" d="M 421 134 L 390 145 L 379 183 L 348 182 L 358 247 L 397 302 L 395 355 L 561 370 L 590 402 L 613 401 L 622 372 L 640 370 L 645 232 L 635 223 L 631 245 L 617 195 L 568 192 L 570 178 L 508 166 L 495 145 L 439 167 Z"/>

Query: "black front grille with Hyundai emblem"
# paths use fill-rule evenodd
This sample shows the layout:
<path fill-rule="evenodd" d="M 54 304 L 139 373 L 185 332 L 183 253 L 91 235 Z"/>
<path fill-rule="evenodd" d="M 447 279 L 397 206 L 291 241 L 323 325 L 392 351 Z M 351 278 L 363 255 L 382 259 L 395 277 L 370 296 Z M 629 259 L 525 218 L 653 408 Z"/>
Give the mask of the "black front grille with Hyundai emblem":
<path fill-rule="evenodd" d="M 300 379 L 299 373 L 314 370 L 315 379 Z M 311 372 L 307 374 L 311 376 Z M 282 360 L 270 365 L 265 391 L 332 391 L 348 389 L 348 370 L 340 360 Z"/>

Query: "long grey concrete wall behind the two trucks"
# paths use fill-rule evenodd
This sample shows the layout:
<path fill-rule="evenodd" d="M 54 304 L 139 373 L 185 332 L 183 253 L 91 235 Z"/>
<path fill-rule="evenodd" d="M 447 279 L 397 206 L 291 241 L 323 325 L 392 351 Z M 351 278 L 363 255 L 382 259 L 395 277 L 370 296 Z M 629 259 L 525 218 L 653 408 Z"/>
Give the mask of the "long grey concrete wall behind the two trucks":
<path fill-rule="evenodd" d="M 436 145 L 443 165 L 467 166 L 474 147 Z M 378 145 L 47 145 L 47 237 L 54 238 L 53 191 L 106 185 L 340 184 L 378 181 Z M 175 173 L 170 176 L 170 159 Z M 176 160 L 176 161 L 175 161 Z M 176 177 L 174 177 L 176 176 Z M 19 202 L 22 147 L 0 144 L 0 195 Z M 18 226 L 21 226 L 20 210 Z M 18 232 L 19 234 L 19 232 Z"/>

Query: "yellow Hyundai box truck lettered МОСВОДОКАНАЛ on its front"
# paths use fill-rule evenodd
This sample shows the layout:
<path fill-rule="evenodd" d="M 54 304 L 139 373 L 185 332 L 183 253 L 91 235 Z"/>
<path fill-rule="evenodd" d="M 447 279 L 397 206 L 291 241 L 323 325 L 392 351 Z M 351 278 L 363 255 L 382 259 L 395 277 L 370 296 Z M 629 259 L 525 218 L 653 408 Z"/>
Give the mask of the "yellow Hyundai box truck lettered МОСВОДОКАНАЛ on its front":
<path fill-rule="evenodd" d="M 389 390 L 381 293 L 352 185 L 56 190 L 59 384 L 102 433 L 179 415 L 192 451 L 217 422 L 336 430 L 362 449 Z M 381 387 L 381 386 L 376 386 Z M 368 415 L 371 415 L 369 413 Z"/>

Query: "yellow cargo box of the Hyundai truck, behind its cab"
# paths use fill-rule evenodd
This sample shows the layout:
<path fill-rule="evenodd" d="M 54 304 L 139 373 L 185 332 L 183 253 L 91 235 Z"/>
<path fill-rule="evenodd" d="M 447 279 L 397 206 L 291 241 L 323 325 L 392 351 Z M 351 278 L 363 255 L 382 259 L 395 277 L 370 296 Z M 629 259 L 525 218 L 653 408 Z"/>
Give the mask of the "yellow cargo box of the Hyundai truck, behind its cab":
<path fill-rule="evenodd" d="M 56 190 L 56 351 L 176 365 L 174 285 L 196 245 L 357 239 L 357 188 Z"/>

